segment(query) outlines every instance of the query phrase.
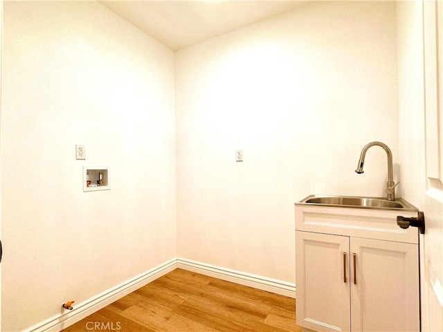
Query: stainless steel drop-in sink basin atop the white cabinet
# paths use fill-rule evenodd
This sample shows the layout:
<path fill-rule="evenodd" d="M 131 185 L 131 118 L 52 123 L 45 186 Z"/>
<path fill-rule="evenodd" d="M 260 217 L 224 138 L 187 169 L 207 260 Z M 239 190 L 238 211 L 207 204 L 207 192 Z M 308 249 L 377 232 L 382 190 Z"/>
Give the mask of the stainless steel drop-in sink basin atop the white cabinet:
<path fill-rule="evenodd" d="M 388 201 L 380 197 L 360 197 L 360 196 L 307 196 L 298 204 L 318 204 L 325 206 L 341 206 L 343 208 L 365 208 L 376 210 L 402 210 L 418 211 L 415 206 L 410 205 L 403 199 Z"/>

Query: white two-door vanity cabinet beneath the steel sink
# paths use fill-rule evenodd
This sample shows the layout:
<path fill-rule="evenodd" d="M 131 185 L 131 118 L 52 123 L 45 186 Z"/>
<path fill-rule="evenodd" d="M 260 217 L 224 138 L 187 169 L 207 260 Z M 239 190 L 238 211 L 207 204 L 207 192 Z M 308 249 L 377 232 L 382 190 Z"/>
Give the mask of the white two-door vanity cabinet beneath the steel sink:
<path fill-rule="evenodd" d="M 296 204 L 297 324 L 306 331 L 419 331 L 417 212 Z"/>

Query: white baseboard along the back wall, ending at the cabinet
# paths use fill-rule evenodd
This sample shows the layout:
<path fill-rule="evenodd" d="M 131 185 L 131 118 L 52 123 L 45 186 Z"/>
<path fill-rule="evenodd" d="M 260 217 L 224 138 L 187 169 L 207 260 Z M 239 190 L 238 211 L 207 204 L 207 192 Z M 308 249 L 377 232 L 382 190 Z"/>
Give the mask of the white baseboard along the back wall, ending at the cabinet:
<path fill-rule="evenodd" d="M 177 268 L 226 280 L 227 282 L 234 282 L 235 284 L 261 289 L 262 291 L 296 298 L 296 285 L 289 282 L 282 282 L 259 275 L 251 275 L 249 273 L 221 268 L 220 266 L 213 266 L 184 258 L 177 258 Z"/>

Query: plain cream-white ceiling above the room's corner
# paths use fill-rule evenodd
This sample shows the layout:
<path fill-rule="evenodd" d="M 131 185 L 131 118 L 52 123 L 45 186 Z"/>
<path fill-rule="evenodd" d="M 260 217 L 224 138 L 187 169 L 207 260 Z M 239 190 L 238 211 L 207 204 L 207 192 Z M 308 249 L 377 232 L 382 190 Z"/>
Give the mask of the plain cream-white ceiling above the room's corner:
<path fill-rule="evenodd" d="M 223 35 L 310 1 L 98 1 L 172 50 Z"/>

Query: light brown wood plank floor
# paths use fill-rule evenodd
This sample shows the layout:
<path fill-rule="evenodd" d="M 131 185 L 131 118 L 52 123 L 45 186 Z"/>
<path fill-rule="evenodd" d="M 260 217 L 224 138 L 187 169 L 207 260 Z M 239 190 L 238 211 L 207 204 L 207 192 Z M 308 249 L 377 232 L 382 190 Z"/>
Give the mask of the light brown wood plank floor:
<path fill-rule="evenodd" d="M 296 326 L 295 299 L 176 269 L 64 329 L 73 331 L 293 332 L 301 328 Z"/>

